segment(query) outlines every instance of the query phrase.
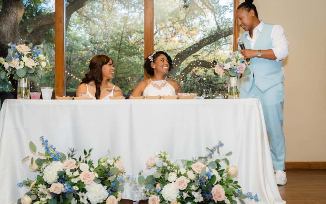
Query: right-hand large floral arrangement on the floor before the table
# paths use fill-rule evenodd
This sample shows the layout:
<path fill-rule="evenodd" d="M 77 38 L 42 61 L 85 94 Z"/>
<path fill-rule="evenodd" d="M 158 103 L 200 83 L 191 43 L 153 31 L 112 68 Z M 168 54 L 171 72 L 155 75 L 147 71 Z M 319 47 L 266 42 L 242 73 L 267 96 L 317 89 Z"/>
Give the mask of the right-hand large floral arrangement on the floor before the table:
<path fill-rule="evenodd" d="M 172 163 L 166 151 L 156 153 L 155 157 L 150 157 L 146 162 L 146 169 L 155 168 L 156 172 L 146 178 L 143 175 L 138 177 L 139 185 L 145 187 L 141 199 L 148 199 L 149 204 L 234 204 L 237 203 L 236 197 L 242 204 L 245 203 L 245 198 L 258 202 L 257 194 L 253 196 L 248 192 L 244 195 L 238 181 L 232 179 L 238 175 L 238 170 L 235 165 L 230 165 L 227 158 L 221 157 L 219 148 L 223 145 L 219 141 L 213 148 L 207 148 L 209 153 L 206 156 L 182 160 L 184 168 Z M 216 151 L 221 158 L 213 160 Z M 231 154 L 229 152 L 225 155 Z M 162 165 L 157 165 L 156 157 Z M 225 169 L 221 162 L 227 164 Z"/>

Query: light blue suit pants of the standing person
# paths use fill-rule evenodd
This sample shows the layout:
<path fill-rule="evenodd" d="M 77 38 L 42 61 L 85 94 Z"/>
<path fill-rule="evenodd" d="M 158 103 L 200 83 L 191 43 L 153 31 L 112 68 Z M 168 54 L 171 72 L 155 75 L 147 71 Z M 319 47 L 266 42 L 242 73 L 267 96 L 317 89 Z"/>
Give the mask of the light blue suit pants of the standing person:
<path fill-rule="evenodd" d="M 271 154 L 274 170 L 285 169 L 285 139 L 282 130 L 284 87 L 283 82 L 262 92 L 255 85 L 253 78 L 249 92 L 240 88 L 241 98 L 258 98 L 262 104 L 267 133 L 270 139 Z"/>

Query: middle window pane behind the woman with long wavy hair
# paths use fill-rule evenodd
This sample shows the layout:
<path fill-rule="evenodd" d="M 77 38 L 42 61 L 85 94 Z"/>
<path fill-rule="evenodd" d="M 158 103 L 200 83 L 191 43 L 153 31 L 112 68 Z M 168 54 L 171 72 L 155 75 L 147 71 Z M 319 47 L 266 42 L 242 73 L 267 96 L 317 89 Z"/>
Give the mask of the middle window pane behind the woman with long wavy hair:
<path fill-rule="evenodd" d="M 130 93 L 142 80 L 143 5 L 143 0 L 87 1 L 71 15 L 66 32 L 68 92 L 77 90 L 89 60 L 97 54 L 113 59 L 112 83 L 123 93 Z"/>

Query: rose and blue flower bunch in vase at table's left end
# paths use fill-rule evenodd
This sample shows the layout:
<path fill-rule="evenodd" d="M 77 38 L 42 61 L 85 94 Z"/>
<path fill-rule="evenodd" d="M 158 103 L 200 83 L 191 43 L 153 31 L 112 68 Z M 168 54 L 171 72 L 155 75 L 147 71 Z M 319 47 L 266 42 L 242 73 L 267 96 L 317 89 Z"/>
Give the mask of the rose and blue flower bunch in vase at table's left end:
<path fill-rule="evenodd" d="M 44 74 L 43 68 L 46 67 L 45 56 L 40 54 L 41 49 L 37 46 L 32 47 L 20 44 L 8 44 L 8 55 L 4 59 L 0 57 L 0 64 L 5 68 L 1 69 L 0 77 L 5 78 L 7 75 L 13 74 L 14 79 L 29 77 L 33 81 L 37 81 Z"/>

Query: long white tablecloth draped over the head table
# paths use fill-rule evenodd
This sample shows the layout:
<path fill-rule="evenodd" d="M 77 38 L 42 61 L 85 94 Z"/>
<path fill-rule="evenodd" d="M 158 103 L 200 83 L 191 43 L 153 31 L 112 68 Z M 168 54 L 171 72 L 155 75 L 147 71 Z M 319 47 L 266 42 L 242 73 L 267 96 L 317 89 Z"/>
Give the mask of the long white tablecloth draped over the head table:
<path fill-rule="evenodd" d="M 149 156 L 166 150 L 173 159 L 204 156 L 221 140 L 221 153 L 239 169 L 244 192 L 263 204 L 283 204 L 274 178 L 270 148 L 258 99 L 236 100 L 6 100 L 0 113 L 1 203 L 13 203 L 28 189 L 17 182 L 34 179 L 21 160 L 44 135 L 61 152 L 94 148 L 96 162 L 107 149 L 121 156 L 135 177 Z M 126 187 L 123 198 L 134 199 Z M 246 201 L 247 202 L 247 201 Z M 251 203 L 251 202 L 248 202 Z"/>

